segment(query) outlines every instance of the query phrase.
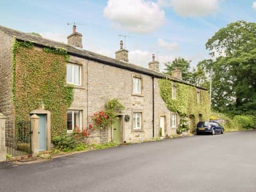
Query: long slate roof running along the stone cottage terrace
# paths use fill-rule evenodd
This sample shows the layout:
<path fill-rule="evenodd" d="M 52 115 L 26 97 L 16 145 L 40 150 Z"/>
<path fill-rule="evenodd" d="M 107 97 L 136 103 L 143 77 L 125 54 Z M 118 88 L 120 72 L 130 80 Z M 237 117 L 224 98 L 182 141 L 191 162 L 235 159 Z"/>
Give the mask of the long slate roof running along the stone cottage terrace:
<path fill-rule="evenodd" d="M 149 75 L 149 76 L 152 76 L 152 77 L 169 78 L 174 82 L 179 82 L 179 83 L 195 86 L 198 89 L 206 90 L 204 87 L 199 87 L 199 86 L 193 85 L 189 82 L 183 81 L 182 79 L 175 78 L 175 77 L 172 77 L 170 75 L 163 74 L 163 73 L 158 73 L 156 71 L 153 71 L 153 70 L 150 70 L 150 69 L 147 69 L 147 68 L 144 68 L 144 67 L 140 67 L 140 66 L 134 65 L 132 63 L 118 61 L 116 59 L 106 57 L 104 55 L 94 53 L 94 52 L 91 52 L 91 51 L 76 49 L 75 47 L 70 46 L 70 45 L 65 44 L 65 43 L 55 42 L 55 41 L 52 41 L 50 39 L 46 39 L 46 38 L 39 37 L 39 36 L 29 34 L 29 33 L 24 33 L 24 32 L 14 30 L 14 29 L 11 29 L 11 28 L 7 28 L 7 27 L 4 27 L 4 26 L 0 26 L 0 30 L 4 31 L 4 33 L 6 33 L 6 34 L 8 34 L 12 37 L 15 37 L 16 39 L 18 39 L 20 41 L 32 42 L 36 46 L 39 46 L 39 47 L 63 47 L 64 49 L 66 49 L 68 51 L 69 55 L 74 55 L 74 56 L 77 56 L 77 57 L 81 57 L 81 58 L 85 58 L 85 59 L 105 63 L 106 65 L 127 69 L 127 70 L 130 70 L 130 71 L 134 71 L 134 72 L 137 72 L 137 73 Z"/>

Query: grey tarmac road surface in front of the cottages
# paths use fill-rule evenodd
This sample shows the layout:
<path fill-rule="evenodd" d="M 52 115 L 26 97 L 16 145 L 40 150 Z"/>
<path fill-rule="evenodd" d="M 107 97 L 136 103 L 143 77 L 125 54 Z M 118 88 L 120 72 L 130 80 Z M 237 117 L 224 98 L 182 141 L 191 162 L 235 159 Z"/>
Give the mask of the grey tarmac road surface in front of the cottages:
<path fill-rule="evenodd" d="M 3 163 L 0 191 L 256 191 L 256 131 Z"/>

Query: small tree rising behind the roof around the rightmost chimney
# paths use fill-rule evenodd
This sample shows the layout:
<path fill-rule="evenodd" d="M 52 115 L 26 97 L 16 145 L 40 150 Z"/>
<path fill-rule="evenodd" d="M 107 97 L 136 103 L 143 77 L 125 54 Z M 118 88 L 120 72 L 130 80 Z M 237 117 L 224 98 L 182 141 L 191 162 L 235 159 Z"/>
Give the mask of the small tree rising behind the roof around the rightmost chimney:
<path fill-rule="evenodd" d="M 188 81 L 191 78 L 191 72 L 190 69 L 190 62 L 183 58 L 175 58 L 174 61 L 164 63 L 166 72 L 165 74 L 172 75 L 172 71 L 175 69 L 175 67 L 178 67 L 182 71 L 182 78 L 185 81 Z"/>

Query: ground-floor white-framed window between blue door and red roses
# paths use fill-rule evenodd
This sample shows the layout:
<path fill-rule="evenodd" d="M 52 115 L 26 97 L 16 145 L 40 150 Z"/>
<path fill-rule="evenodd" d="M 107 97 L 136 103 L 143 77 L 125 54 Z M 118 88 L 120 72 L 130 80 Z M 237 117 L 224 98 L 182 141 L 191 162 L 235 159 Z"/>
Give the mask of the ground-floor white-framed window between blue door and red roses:
<path fill-rule="evenodd" d="M 82 130 L 82 111 L 68 110 L 67 111 L 67 130 L 72 132 L 74 129 Z"/>

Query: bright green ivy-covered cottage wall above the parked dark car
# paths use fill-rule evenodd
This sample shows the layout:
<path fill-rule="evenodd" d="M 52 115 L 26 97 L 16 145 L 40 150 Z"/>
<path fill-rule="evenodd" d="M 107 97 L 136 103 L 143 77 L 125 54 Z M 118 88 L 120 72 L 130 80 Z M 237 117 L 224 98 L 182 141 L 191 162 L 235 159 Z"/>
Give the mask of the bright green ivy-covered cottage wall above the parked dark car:
<path fill-rule="evenodd" d="M 209 93 L 200 90 L 200 102 L 197 103 L 197 89 L 169 79 L 158 79 L 160 94 L 166 103 L 166 107 L 173 113 L 179 115 L 194 116 L 202 115 L 202 120 L 206 121 L 210 118 L 210 99 Z M 172 99 L 172 86 L 176 86 L 176 98 Z"/>

